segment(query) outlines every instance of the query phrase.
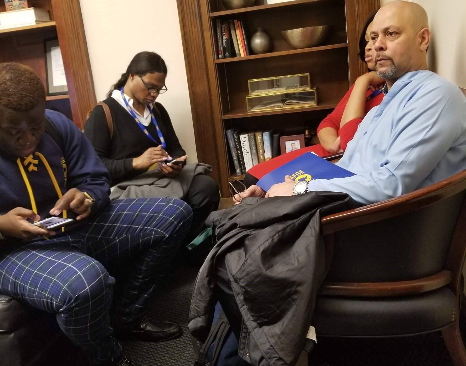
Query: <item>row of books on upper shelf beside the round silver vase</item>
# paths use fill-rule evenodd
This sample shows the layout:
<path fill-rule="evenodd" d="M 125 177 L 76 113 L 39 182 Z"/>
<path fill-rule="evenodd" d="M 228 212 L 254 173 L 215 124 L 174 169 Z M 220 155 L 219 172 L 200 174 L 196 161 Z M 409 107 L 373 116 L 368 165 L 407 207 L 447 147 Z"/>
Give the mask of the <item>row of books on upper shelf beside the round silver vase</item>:
<path fill-rule="evenodd" d="M 244 57 L 251 54 L 244 21 L 216 19 L 218 58 Z"/>

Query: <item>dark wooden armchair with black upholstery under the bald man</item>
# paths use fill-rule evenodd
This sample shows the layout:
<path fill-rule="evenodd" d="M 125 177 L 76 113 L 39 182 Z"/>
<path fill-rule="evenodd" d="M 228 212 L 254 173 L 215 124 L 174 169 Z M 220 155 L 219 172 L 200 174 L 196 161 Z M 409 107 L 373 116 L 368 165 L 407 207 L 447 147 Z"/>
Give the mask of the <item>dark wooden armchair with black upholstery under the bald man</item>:
<path fill-rule="evenodd" d="M 329 272 L 317 336 L 395 337 L 441 331 L 455 366 L 466 252 L 466 171 L 413 193 L 322 218 Z M 307 365 L 302 355 L 299 365 Z"/>

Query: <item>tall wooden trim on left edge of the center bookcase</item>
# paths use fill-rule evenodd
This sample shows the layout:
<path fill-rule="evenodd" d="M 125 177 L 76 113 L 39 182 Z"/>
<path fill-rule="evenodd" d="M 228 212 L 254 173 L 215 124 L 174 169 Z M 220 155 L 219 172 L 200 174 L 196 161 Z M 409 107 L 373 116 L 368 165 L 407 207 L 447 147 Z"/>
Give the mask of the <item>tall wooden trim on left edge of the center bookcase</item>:
<path fill-rule="evenodd" d="M 209 86 L 201 4 L 200 0 L 177 0 L 177 5 L 198 160 L 212 166 L 212 178 L 219 182 L 218 141 L 212 111 L 212 96 L 217 98 L 217 91 L 212 92 Z"/>

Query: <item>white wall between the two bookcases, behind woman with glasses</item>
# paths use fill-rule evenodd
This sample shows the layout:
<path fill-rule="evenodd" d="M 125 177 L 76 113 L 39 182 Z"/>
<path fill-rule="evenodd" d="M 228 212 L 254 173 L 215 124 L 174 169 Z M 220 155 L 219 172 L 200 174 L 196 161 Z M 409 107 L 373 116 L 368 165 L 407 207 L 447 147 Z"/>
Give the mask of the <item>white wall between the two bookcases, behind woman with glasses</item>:
<path fill-rule="evenodd" d="M 97 100 L 140 51 L 157 52 L 168 67 L 160 95 L 190 162 L 197 161 L 191 105 L 175 0 L 80 0 Z"/>

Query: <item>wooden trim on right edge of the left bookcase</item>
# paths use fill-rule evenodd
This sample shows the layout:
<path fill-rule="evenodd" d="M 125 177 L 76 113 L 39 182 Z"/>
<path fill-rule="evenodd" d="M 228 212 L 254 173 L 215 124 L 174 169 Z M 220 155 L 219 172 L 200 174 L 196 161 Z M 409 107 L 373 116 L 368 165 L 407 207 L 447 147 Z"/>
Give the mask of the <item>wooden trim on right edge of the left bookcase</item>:
<path fill-rule="evenodd" d="M 82 129 L 87 113 L 96 105 L 96 93 L 89 62 L 89 53 L 82 23 L 79 0 L 52 0 L 58 42 L 68 84 L 71 113 L 76 126 Z"/>

